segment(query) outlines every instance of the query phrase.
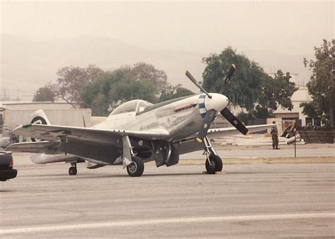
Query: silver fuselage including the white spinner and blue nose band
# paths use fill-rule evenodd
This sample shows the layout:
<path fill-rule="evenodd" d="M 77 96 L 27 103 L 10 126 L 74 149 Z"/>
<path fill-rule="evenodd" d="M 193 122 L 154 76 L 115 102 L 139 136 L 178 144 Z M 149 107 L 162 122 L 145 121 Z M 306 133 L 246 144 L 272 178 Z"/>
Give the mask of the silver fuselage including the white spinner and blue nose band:
<path fill-rule="evenodd" d="M 111 114 L 105 121 L 93 128 L 136 131 L 166 130 L 170 136 L 165 140 L 170 142 L 182 140 L 199 131 L 206 111 L 213 108 L 221 111 L 227 106 L 227 97 L 222 94 L 212 94 L 212 96 L 213 99 L 209 99 L 206 94 L 182 97 L 163 102 L 158 107 L 148 106 L 143 111 L 136 106 L 135 111 Z"/>

